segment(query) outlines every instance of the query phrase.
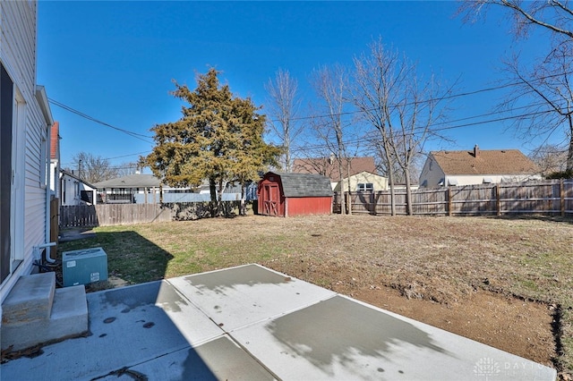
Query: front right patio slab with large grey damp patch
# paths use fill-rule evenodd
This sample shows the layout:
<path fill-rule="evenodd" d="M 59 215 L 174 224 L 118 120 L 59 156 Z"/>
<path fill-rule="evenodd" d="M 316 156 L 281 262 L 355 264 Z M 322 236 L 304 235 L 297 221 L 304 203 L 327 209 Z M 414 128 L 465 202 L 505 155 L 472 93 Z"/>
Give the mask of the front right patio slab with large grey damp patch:
<path fill-rule="evenodd" d="M 555 371 L 335 296 L 233 333 L 282 379 L 554 379 Z"/>

